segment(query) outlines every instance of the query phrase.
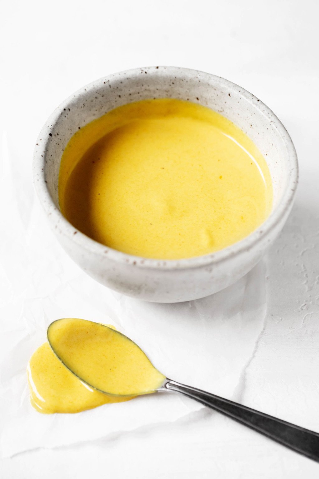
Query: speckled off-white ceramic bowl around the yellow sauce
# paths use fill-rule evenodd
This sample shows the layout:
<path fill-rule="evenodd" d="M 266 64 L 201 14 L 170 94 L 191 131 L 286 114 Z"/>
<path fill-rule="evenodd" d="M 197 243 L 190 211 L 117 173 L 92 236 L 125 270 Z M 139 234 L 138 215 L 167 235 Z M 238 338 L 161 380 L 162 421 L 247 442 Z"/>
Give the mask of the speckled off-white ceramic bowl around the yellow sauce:
<path fill-rule="evenodd" d="M 125 103 L 147 98 L 200 103 L 238 125 L 263 153 L 271 172 L 271 215 L 252 234 L 213 254 L 162 261 L 112 250 L 75 229 L 59 210 L 63 149 L 79 127 Z M 285 127 L 259 99 L 223 78 L 196 70 L 149 67 L 101 78 L 71 95 L 44 125 L 34 151 L 34 183 L 58 240 L 71 258 L 103 285 L 156 302 L 208 296 L 234 283 L 261 259 L 283 227 L 298 178 L 297 155 Z"/>

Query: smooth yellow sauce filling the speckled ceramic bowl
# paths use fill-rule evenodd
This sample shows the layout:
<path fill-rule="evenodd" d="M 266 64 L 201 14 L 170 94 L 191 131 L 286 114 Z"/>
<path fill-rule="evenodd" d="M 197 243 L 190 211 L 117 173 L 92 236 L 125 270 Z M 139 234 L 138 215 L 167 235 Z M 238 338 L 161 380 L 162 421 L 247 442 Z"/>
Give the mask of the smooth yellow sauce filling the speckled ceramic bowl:
<path fill-rule="evenodd" d="M 181 259 L 220 250 L 269 215 L 264 157 L 237 126 L 181 100 L 131 103 L 70 139 L 59 173 L 63 215 L 119 251 Z"/>

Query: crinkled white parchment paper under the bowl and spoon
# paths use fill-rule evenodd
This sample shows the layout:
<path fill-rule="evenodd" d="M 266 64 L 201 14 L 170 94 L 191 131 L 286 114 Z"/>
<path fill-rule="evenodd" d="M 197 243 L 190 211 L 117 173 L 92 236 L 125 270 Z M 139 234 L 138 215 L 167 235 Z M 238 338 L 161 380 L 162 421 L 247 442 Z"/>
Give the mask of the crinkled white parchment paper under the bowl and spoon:
<path fill-rule="evenodd" d="M 238 399 L 245 367 L 264 327 L 265 268 L 216 295 L 153 304 L 113 293 L 82 272 L 49 230 L 44 213 L 3 148 L 0 225 L 0 452 L 13 456 L 112 438 L 203 408 L 176 393 L 159 393 L 77 414 L 43 415 L 29 402 L 26 365 L 57 318 L 113 324 L 139 344 L 166 376 Z M 15 181 L 12 181 L 14 176 Z"/>

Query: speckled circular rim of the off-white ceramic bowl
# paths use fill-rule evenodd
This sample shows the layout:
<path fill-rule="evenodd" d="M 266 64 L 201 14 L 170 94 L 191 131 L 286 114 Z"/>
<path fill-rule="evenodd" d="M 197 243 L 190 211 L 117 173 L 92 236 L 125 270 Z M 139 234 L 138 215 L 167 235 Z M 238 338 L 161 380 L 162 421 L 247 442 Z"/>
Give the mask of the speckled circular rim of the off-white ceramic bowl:
<path fill-rule="evenodd" d="M 97 87 L 102 87 L 106 81 L 119 81 L 125 79 L 127 80 L 129 77 L 134 77 L 135 75 L 140 76 L 141 71 L 150 72 L 158 75 L 171 75 L 173 73 L 176 76 L 183 76 L 183 78 L 185 78 L 186 76 L 194 77 L 194 75 L 196 75 L 197 77 L 200 77 L 208 82 L 213 80 L 215 83 L 219 83 L 225 89 L 230 89 L 230 91 L 240 92 L 240 94 L 251 105 L 255 107 L 259 114 L 262 114 L 267 118 L 269 125 L 272 128 L 275 128 L 279 133 L 282 141 L 285 144 L 287 151 L 287 161 L 288 164 L 290 164 L 290 171 L 287 174 L 286 188 L 281 198 L 281 201 L 278 205 L 276 205 L 270 215 L 258 228 L 256 228 L 245 238 L 231 244 L 230 246 L 227 246 L 226 248 L 223 248 L 222 250 L 208 253 L 202 256 L 195 256 L 178 260 L 143 258 L 141 256 L 134 256 L 131 254 L 124 253 L 122 251 L 114 250 L 113 248 L 110 248 L 106 245 L 99 243 L 98 241 L 95 241 L 94 239 L 89 238 L 87 235 L 85 235 L 77 228 L 75 228 L 71 223 L 69 223 L 69 221 L 62 215 L 60 210 L 55 206 L 55 203 L 45 181 L 45 150 L 48 141 L 51 139 L 51 137 L 49 136 L 50 130 L 54 125 L 58 123 L 61 117 L 61 111 L 63 112 L 64 109 L 70 107 L 72 103 L 77 102 L 77 99 L 80 96 L 90 93 L 91 90 L 94 90 Z M 123 70 L 121 72 L 113 73 L 106 77 L 102 77 L 99 80 L 94 80 L 93 82 L 88 83 L 87 85 L 83 86 L 82 88 L 71 94 L 68 98 L 66 98 L 63 103 L 61 103 L 57 108 L 55 108 L 54 112 L 49 116 L 43 128 L 41 129 L 36 142 L 36 146 L 34 148 L 33 183 L 45 213 L 47 214 L 47 216 L 50 217 L 51 222 L 55 223 L 55 230 L 57 230 L 58 233 L 66 236 L 77 246 L 88 250 L 90 253 L 100 255 L 105 259 L 109 259 L 114 262 L 124 263 L 127 265 L 132 264 L 134 266 L 139 266 L 143 269 L 188 269 L 220 264 L 229 260 L 230 258 L 233 258 L 234 256 L 239 256 L 242 253 L 251 250 L 254 246 L 262 242 L 264 238 L 268 236 L 269 233 L 271 233 L 271 231 L 278 224 L 280 224 L 281 220 L 290 210 L 290 207 L 296 194 L 296 188 L 298 183 L 298 160 L 296 149 L 285 126 L 281 123 L 281 121 L 277 118 L 273 111 L 268 108 L 267 105 L 265 105 L 260 99 L 258 99 L 249 91 L 243 89 L 242 87 L 240 87 L 236 83 L 231 82 L 230 80 L 226 80 L 217 75 L 212 75 L 210 73 L 206 73 L 200 70 L 183 67 L 154 66 Z"/>

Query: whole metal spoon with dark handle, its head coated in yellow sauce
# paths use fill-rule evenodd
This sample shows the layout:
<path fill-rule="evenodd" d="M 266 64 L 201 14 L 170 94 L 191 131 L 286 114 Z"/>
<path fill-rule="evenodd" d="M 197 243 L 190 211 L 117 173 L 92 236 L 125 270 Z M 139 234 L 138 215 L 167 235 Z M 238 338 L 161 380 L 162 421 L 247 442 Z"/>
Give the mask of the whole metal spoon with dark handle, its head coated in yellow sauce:
<path fill-rule="evenodd" d="M 93 334 L 90 335 L 92 325 Z M 77 331 L 78 326 L 81 328 L 80 332 Z M 94 329 L 96 331 L 94 331 Z M 101 334 L 107 338 L 109 344 L 103 342 L 104 340 L 99 342 L 99 336 Z M 235 421 L 241 422 L 274 441 L 293 449 L 299 454 L 319 462 L 319 433 L 309 431 L 290 422 L 282 421 L 281 419 L 248 408 L 229 399 L 224 399 L 215 394 L 168 379 L 154 368 L 146 354 L 143 353 L 142 349 L 136 343 L 119 331 L 84 319 L 58 319 L 48 327 L 47 338 L 53 352 L 66 368 L 89 387 L 104 394 L 111 396 L 138 396 L 156 391 L 178 392 L 231 417 Z M 115 343 L 116 348 L 113 348 L 114 351 L 109 354 L 109 350 L 112 349 L 112 344 Z M 102 349 L 99 349 L 101 347 Z M 99 355 L 99 351 L 101 351 L 102 354 Z M 112 375 L 110 386 L 106 386 L 108 382 L 105 380 L 107 375 L 104 373 L 106 370 L 103 365 L 103 361 L 105 364 L 104 352 L 110 356 L 107 358 L 107 361 L 109 361 L 107 365 L 111 366 L 107 367 L 108 375 Z M 94 355 L 94 353 L 98 354 Z M 119 361 L 119 365 L 117 365 L 116 361 L 118 361 L 118 357 L 121 353 L 121 361 Z M 79 366 L 79 358 L 84 365 L 82 370 Z M 137 361 L 140 361 L 140 363 Z M 139 365 L 143 364 L 143 371 L 142 368 L 140 370 L 138 368 L 134 369 L 134 362 Z M 101 367 L 103 369 L 101 369 Z M 149 376 L 146 377 L 152 378 L 156 386 L 153 384 L 153 387 L 148 388 L 145 386 L 147 383 L 143 383 L 142 381 L 142 390 L 138 390 L 134 388 L 134 381 L 126 381 L 125 372 L 129 371 L 131 378 L 134 378 L 135 375 L 135 381 L 139 381 L 140 377 L 145 376 L 145 370 L 148 370 L 150 373 Z M 124 379 L 122 379 L 123 377 Z M 114 389 L 113 387 L 114 381 L 115 383 L 116 381 L 119 382 L 119 378 L 128 383 L 128 386 L 122 388 L 122 392 L 120 393 L 118 389 Z"/>

